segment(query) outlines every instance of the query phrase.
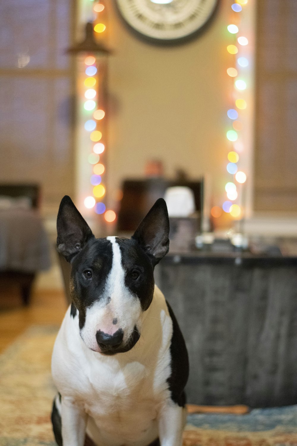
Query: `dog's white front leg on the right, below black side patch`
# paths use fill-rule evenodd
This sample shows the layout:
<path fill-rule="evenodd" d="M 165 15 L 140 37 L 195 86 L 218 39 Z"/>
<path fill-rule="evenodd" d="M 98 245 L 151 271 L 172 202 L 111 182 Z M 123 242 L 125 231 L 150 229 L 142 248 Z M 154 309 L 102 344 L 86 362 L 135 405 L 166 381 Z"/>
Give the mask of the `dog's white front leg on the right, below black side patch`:
<path fill-rule="evenodd" d="M 182 446 L 186 409 L 167 401 L 159 413 L 159 440 L 161 446 Z"/>

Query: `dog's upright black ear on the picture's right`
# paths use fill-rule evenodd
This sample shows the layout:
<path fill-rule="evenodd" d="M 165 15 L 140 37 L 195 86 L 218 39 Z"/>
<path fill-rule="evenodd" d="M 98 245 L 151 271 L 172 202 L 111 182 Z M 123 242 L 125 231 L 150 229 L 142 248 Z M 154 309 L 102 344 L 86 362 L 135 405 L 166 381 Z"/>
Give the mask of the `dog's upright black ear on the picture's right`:
<path fill-rule="evenodd" d="M 132 239 L 151 257 L 154 265 L 169 250 L 169 218 L 163 198 L 159 198 L 136 229 Z"/>

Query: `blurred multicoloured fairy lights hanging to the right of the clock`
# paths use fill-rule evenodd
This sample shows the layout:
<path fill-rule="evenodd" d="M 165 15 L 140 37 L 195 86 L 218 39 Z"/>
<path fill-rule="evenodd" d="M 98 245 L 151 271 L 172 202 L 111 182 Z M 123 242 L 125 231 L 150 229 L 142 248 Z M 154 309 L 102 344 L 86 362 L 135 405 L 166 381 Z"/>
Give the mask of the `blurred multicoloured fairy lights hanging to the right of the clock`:
<path fill-rule="evenodd" d="M 242 187 L 246 182 L 247 176 L 242 170 L 238 170 L 238 163 L 240 157 L 244 152 L 244 144 L 240 132 L 243 128 L 242 115 L 247 108 L 247 102 L 244 99 L 245 93 L 248 88 L 246 81 L 244 80 L 244 73 L 248 67 L 248 58 L 244 57 L 244 48 L 248 45 L 247 37 L 240 35 L 240 19 L 241 14 L 246 8 L 248 0 L 235 0 L 235 3 L 231 5 L 232 17 L 231 24 L 227 26 L 229 36 L 232 37 L 232 43 L 227 46 L 227 52 L 232 57 L 230 66 L 227 69 L 227 75 L 234 79 L 232 101 L 233 108 L 229 108 L 227 111 L 228 117 L 228 130 L 226 133 L 228 141 L 232 144 L 232 150 L 228 152 L 226 160 L 227 172 L 232 176 L 225 185 L 226 200 L 222 206 L 212 207 L 211 214 L 217 218 L 222 215 L 222 210 L 230 214 L 234 219 L 239 219 L 242 216 L 242 205 L 237 204 L 240 202 L 240 194 L 242 195 Z M 236 41 L 234 42 L 234 40 Z M 235 44 L 234 44 L 235 43 Z"/>

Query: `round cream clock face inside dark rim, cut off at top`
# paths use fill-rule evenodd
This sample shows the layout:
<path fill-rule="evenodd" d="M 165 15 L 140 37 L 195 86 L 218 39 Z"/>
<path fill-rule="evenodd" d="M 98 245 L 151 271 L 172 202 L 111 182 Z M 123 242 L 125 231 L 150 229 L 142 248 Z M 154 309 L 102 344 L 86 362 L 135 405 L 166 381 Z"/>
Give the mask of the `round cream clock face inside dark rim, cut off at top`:
<path fill-rule="evenodd" d="M 151 39 L 175 41 L 197 32 L 218 0 L 116 0 L 126 22 Z"/>

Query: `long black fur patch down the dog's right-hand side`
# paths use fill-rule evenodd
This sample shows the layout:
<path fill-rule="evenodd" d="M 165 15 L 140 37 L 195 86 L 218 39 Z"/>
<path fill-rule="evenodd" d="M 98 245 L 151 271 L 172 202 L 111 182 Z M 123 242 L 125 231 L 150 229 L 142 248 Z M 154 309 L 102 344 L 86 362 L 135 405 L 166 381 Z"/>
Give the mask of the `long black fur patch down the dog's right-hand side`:
<path fill-rule="evenodd" d="M 166 303 L 173 324 L 173 333 L 170 346 L 171 376 L 169 376 L 167 382 L 169 384 L 172 401 L 179 406 L 184 407 L 186 404 L 184 388 L 187 384 L 187 379 L 189 376 L 187 347 L 171 306 L 167 301 Z"/>

